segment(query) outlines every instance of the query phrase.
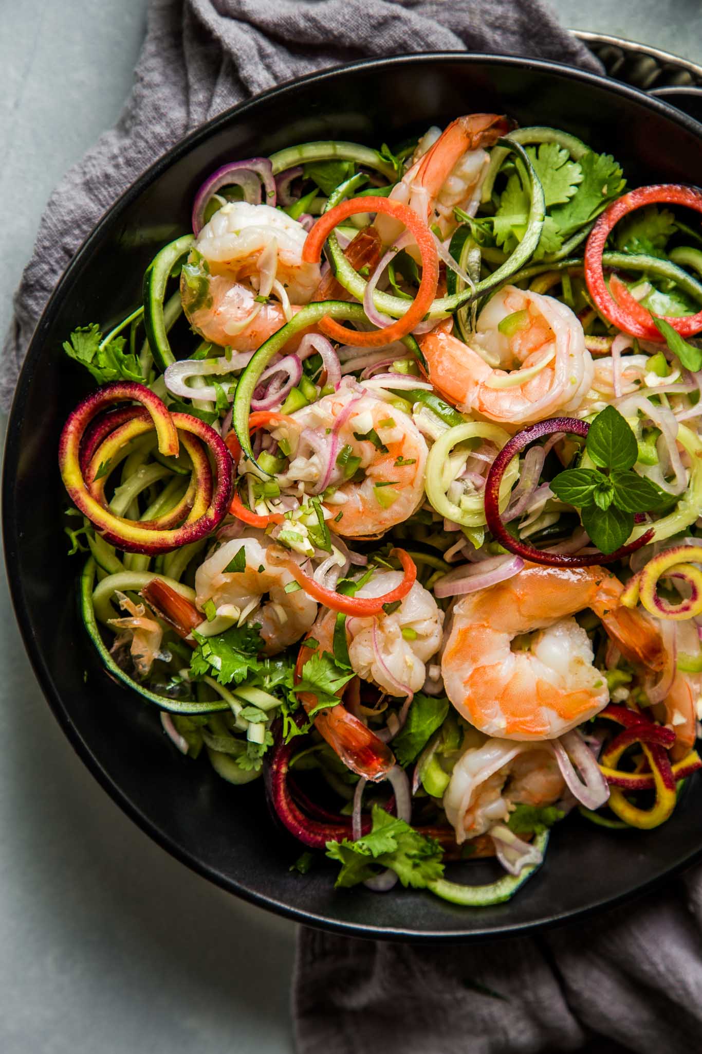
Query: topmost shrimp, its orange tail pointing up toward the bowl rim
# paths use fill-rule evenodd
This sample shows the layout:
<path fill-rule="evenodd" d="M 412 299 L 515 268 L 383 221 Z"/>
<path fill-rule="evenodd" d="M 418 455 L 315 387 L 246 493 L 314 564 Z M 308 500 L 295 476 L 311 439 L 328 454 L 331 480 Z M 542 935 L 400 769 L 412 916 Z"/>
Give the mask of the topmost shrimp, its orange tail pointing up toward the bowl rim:
<path fill-rule="evenodd" d="M 457 206 L 472 215 L 477 211 L 488 164 L 484 148 L 506 135 L 509 128 L 507 118 L 498 114 L 468 114 L 452 121 L 429 144 L 429 137 L 438 131 L 430 129 L 418 144 L 412 168 L 389 196 L 408 204 L 429 226 L 438 226 L 442 238 L 448 237 L 457 227 Z M 401 225 L 387 216 L 378 216 L 376 227 L 386 245 L 402 231 Z"/>

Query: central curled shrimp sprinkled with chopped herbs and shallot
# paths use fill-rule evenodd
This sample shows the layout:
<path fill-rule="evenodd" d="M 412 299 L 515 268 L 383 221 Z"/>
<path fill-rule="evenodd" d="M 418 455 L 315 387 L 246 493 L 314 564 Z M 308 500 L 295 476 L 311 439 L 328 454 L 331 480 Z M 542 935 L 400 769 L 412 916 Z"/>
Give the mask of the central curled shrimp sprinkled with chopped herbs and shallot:
<path fill-rule="evenodd" d="M 402 410 L 342 388 L 293 416 L 300 434 L 284 483 L 325 480 L 323 505 L 329 527 L 337 533 L 377 536 L 403 523 L 421 505 L 428 449 Z M 316 436 L 305 436 L 305 430 Z M 319 453 L 320 442 L 327 438 L 334 457 L 328 474 L 325 457 Z"/>

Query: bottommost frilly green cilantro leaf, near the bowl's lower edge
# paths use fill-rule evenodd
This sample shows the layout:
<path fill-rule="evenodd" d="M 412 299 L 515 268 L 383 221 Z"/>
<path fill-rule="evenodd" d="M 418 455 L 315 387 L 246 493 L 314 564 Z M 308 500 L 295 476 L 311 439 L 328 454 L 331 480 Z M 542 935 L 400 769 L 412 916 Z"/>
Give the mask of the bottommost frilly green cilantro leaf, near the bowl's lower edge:
<path fill-rule="evenodd" d="M 424 838 L 405 823 L 373 806 L 373 829 L 358 841 L 344 838 L 327 842 L 326 855 L 341 863 L 337 889 L 357 885 L 390 867 L 404 886 L 423 889 L 443 875 L 443 852 L 438 842 Z M 374 866 L 377 865 L 377 866 Z"/>

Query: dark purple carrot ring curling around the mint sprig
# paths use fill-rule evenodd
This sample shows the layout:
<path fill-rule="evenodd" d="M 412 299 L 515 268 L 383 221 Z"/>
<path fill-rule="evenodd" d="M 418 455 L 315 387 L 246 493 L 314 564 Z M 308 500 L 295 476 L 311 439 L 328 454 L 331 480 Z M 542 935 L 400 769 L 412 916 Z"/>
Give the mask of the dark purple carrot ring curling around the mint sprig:
<path fill-rule="evenodd" d="M 654 535 L 653 529 L 647 530 L 636 542 L 623 545 L 615 552 L 594 552 L 587 555 L 548 552 L 545 549 L 537 549 L 533 545 L 517 541 L 502 522 L 499 506 L 500 483 L 513 457 L 521 453 L 535 440 L 553 435 L 555 432 L 566 432 L 584 438 L 588 428 L 589 425 L 586 422 L 578 421 L 577 417 L 555 417 L 549 421 L 540 421 L 535 425 L 527 425 L 521 432 L 517 432 L 498 453 L 487 473 L 487 483 L 485 484 L 485 520 L 493 536 L 509 552 L 523 557 L 524 560 L 529 560 L 535 564 L 545 564 L 547 567 L 593 567 L 598 564 L 611 564 L 650 542 Z"/>

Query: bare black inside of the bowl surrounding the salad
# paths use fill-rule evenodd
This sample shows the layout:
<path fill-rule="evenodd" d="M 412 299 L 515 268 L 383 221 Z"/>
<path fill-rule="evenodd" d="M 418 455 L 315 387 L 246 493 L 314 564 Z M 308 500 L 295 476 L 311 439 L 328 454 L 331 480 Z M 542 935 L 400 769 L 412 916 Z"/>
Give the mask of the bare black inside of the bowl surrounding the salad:
<path fill-rule="evenodd" d="M 59 526 L 58 435 L 89 387 L 61 351 L 78 325 L 104 325 L 140 301 L 157 248 L 188 228 L 203 176 L 233 157 L 309 139 L 398 141 L 472 111 L 553 124 L 614 153 L 631 183 L 689 182 L 702 129 L 670 106 L 556 63 L 461 54 L 356 63 L 276 89 L 210 121 L 143 175 L 68 267 L 34 335 L 7 432 L 3 506 L 13 600 L 37 677 L 66 736 L 122 808 L 161 845 L 226 890 L 301 922 L 349 935 L 465 940 L 525 931 L 629 897 L 702 855 L 702 782 L 650 833 L 574 817 L 514 901 L 463 910 L 429 894 L 335 891 L 332 865 L 288 868 L 300 846 L 274 825 L 260 782 L 241 788 L 176 754 L 156 710 L 104 674 L 76 604 L 79 565 Z M 489 864 L 464 864 L 482 880 Z M 467 876 L 470 878 L 467 878 Z"/>

